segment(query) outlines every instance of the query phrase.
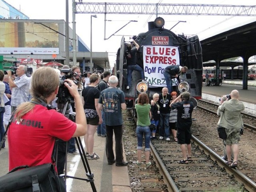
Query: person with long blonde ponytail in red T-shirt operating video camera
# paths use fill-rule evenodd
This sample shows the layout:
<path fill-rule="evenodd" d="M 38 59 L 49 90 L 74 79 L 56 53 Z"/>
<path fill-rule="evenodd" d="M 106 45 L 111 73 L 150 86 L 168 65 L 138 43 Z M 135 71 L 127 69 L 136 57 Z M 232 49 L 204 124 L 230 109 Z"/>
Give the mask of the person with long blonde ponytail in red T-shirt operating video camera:
<path fill-rule="evenodd" d="M 17 107 L 8 130 L 9 170 L 17 166 L 37 166 L 52 163 L 55 138 L 68 141 L 87 132 L 86 118 L 76 84 L 65 80 L 64 85 L 74 97 L 76 122 L 72 122 L 47 106 L 56 98 L 59 76 L 52 68 L 37 69 L 32 76 L 32 100 Z M 26 130 L 26 131 L 24 131 Z M 29 155 L 28 155 L 29 154 Z"/>

